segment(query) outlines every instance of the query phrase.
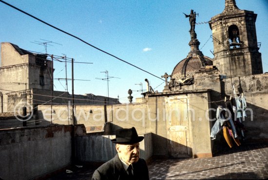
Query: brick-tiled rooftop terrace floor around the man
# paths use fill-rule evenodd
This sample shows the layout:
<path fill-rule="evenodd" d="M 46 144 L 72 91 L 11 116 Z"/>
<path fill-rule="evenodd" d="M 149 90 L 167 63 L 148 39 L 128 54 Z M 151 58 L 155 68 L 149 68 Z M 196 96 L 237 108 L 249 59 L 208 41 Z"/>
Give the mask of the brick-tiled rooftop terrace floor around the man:
<path fill-rule="evenodd" d="M 153 159 L 149 164 L 150 180 L 180 179 L 267 179 L 268 143 L 245 143 L 222 147 L 213 158 Z M 47 180 L 91 180 L 97 166 L 70 168 Z"/>

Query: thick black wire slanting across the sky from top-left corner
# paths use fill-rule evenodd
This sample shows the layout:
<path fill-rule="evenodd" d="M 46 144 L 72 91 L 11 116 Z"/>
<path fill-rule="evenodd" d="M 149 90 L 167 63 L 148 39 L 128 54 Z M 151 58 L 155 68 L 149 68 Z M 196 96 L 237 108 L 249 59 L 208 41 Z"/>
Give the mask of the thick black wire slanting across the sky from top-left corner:
<path fill-rule="evenodd" d="M 100 49 L 100 48 L 98 48 L 98 47 L 96 47 L 96 46 L 94 46 L 94 45 L 92 45 L 92 44 L 86 42 L 85 40 L 82 40 L 82 39 L 78 38 L 77 36 L 74 36 L 74 35 L 72 35 L 72 34 L 66 32 L 66 31 L 63 31 L 63 30 L 57 28 L 56 26 L 54 26 L 54 25 L 52 25 L 52 24 L 50 24 L 50 23 L 47 23 L 47 22 L 45 22 L 45 21 L 43 21 L 43 20 L 40 20 L 40 19 L 38 19 L 37 17 L 35 17 L 35 16 L 33 16 L 33 15 L 31 15 L 31 14 L 29 14 L 29 13 L 27 13 L 27 12 L 25 12 L 25 11 L 23 11 L 23 10 L 21 10 L 21 9 L 19 9 L 19 8 L 17 8 L 17 7 L 15 7 L 15 6 L 13 6 L 13 5 L 11 5 L 11 4 L 9 4 L 9 3 L 3 1 L 3 0 L 0 0 L 0 2 L 2 2 L 2 3 L 4 3 L 4 4 L 6 4 L 6 5 L 8 5 L 8 6 L 14 8 L 14 9 L 20 11 L 20 12 L 22 12 L 23 14 L 26 14 L 27 16 L 30 16 L 30 17 L 32 17 L 32 18 L 34 18 L 34 19 L 36 19 L 36 20 L 38 20 L 38 21 L 40 21 L 40 22 L 42 22 L 42 23 L 44 23 L 44 24 L 46 24 L 46 25 L 48 25 L 48 26 L 50 26 L 50 27 L 52 27 L 52 28 L 54 28 L 54 29 L 57 29 L 58 31 L 60 31 L 60 32 L 62 32 L 62 33 L 65 33 L 65 34 L 67 34 L 67 35 L 69 35 L 69 36 L 71 36 L 71 37 L 73 37 L 73 38 L 75 38 L 75 39 L 77 39 L 77 40 L 80 40 L 80 41 L 84 42 L 85 44 L 87 44 L 87 45 L 89 45 L 89 46 L 91 46 L 91 47 L 93 47 L 93 48 L 95 48 L 95 49 L 97 49 L 97 50 L 99 50 L 99 51 L 101 51 L 101 52 L 103 52 L 103 53 L 109 55 L 109 56 L 114 57 L 114 58 L 117 59 L 117 60 L 121 60 L 121 61 L 123 61 L 123 62 L 125 62 L 125 63 L 127 63 L 127 64 L 129 64 L 129 65 L 131 65 L 131 66 L 133 66 L 133 67 L 135 67 L 135 68 L 137 68 L 137 69 L 139 69 L 139 70 L 141 70 L 141 71 L 144 71 L 144 72 L 146 72 L 146 73 L 148 73 L 148 74 L 150 74 L 150 75 L 152 75 L 152 76 L 154 76 L 154 77 L 156 77 L 156 78 L 158 78 L 158 79 L 160 79 L 160 80 L 163 80 L 163 79 L 161 79 L 160 77 L 155 76 L 155 75 L 153 75 L 152 73 L 150 73 L 150 72 L 148 72 L 148 71 L 146 71 L 146 70 L 144 70 L 144 69 L 142 69 L 142 68 L 140 68 L 140 67 L 137 67 L 136 65 L 134 65 L 134 64 L 132 64 L 132 63 L 130 63 L 130 62 L 127 62 L 126 60 L 122 60 L 122 59 L 116 57 L 115 55 L 113 55 L 113 54 L 111 54 L 111 53 L 108 53 L 108 52 L 106 52 L 106 51 L 104 51 L 104 50 L 102 50 L 102 49 Z"/>

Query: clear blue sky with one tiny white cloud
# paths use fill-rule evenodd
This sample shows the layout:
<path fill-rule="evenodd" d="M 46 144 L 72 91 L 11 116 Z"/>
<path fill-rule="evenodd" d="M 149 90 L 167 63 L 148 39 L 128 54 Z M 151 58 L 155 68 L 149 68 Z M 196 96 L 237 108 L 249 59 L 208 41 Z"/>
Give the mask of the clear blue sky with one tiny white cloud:
<path fill-rule="evenodd" d="M 171 74 L 174 66 L 190 51 L 189 20 L 183 12 L 199 14 L 196 22 L 207 22 L 224 10 L 225 0 L 5 0 L 92 45 L 126 60 L 157 77 Z M 236 0 L 239 9 L 254 11 L 257 40 L 261 42 L 263 69 L 268 72 L 268 1 Z M 25 50 L 45 53 L 34 41 L 49 40 L 47 53 L 93 64 L 75 64 L 75 94 L 93 93 L 107 96 L 105 70 L 109 76 L 109 96 L 127 102 L 128 90 L 140 98 L 138 84 L 147 78 L 154 90 L 161 92 L 164 81 L 104 54 L 83 42 L 57 31 L 0 2 L 0 42 L 11 42 Z M 199 48 L 213 58 L 211 29 L 208 23 L 196 25 Z M 55 62 L 55 78 L 65 78 L 64 63 Z M 71 78 L 71 64 L 67 65 Z M 64 91 L 65 82 L 55 80 L 55 90 Z M 68 82 L 71 92 L 71 81 Z M 161 84 L 163 83 L 163 84 Z M 161 85 L 160 85 L 161 84 Z M 159 86 L 160 85 L 160 86 Z M 158 86 L 158 87 L 157 87 Z M 157 88 L 156 88 L 157 87 Z"/>

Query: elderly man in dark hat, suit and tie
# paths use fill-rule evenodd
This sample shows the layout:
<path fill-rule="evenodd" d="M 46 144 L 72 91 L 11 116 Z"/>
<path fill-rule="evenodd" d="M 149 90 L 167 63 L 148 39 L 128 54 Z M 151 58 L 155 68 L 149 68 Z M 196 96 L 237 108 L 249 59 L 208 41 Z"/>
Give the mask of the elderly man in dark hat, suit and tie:
<path fill-rule="evenodd" d="M 134 127 L 118 129 L 112 140 L 117 155 L 96 169 L 92 180 L 149 180 L 147 164 L 139 158 L 139 142 L 143 139 Z"/>

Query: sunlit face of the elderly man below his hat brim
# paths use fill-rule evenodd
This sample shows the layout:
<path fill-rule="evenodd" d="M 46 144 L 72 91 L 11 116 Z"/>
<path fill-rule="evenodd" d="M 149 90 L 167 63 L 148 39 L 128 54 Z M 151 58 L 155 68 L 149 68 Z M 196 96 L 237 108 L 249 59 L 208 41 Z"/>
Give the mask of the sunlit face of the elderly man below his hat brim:
<path fill-rule="evenodd" d="M 139 142 L 134 144 L 116 144 L 118 156 L 127 164 L 135 163 L 139 160 Z"/>

